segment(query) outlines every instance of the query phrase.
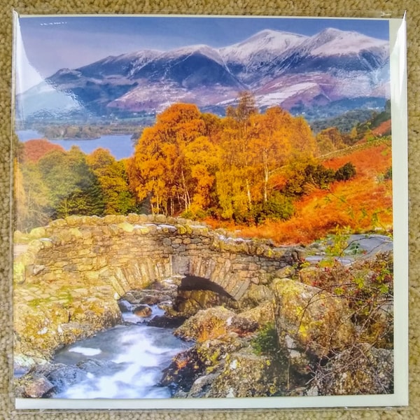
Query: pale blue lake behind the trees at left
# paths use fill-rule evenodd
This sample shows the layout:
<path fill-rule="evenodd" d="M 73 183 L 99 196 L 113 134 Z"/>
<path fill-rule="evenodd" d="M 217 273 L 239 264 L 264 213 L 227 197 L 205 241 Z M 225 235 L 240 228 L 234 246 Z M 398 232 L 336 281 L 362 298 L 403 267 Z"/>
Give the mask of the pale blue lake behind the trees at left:
<path fill-rule="evenodd" d="M 43 134 L 35 130 L 18 130 L 16 134 L 22 142 L 31 139 L 45 139 Z M 134 144 L 130 134 L 102 136 L 99 137 L 99 139 L 66 139 L 49 141 L 54 144 L 59 144 L 66 151 L 69 151 L 71 146 L 78 146 L 80 150 L 87 155 L 97 148 L 105 148 L 109 150 L 116 160 L 130 158 L 130 156 L 134 153 Z"/>

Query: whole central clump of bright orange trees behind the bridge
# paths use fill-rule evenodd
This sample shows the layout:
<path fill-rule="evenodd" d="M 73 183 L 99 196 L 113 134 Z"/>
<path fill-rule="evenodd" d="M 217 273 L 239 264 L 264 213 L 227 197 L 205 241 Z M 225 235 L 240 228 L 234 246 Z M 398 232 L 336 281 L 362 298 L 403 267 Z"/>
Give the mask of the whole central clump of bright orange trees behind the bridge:
<path fill-rule="evenodd" d="M 128 163 L 130 187 L 153 213 L 194 215 L 211 208 L 224 219 L 251 221 L 284 201 L 269 185 L 279 167 L 315 151 L 302 118 L 279 107 L 259 113 L 249 92 L 241 92 L 225 118 L 174 104 L 141 135 Z"/>

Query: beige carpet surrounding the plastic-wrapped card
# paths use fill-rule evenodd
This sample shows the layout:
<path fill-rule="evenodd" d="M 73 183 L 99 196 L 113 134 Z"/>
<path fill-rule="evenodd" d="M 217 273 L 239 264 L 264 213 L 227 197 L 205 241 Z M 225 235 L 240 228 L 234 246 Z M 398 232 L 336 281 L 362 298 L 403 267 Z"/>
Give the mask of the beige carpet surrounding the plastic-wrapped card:
<path fill-rule="evenodd" d="M 409 407 L 397 409 L 16 412 L 10 392 L 10 86 L 12 10 L 26 13 L 206 13 L 360 16 L 407 10 L 409 113 Z M 420 1 L 419 0 L 0 0 L 0 420 L 1 419 L 420 419 Z M 401 13 L 397 14 L 401 15 Z M 396 285 L 398 287 L 398 284 Z M 398 368 L 398 366 L 397 366 Z M 374 397 L 372 397 L 374 398 Z"/>

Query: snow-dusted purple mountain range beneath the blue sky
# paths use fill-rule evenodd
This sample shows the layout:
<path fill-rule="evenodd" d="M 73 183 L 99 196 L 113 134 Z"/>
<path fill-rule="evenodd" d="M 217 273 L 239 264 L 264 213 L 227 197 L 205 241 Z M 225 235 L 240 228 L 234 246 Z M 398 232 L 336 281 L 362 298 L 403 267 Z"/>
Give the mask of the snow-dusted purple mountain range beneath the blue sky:
<path fill-rule="evenodd" d="M 18 118 L 158 113 L 174 102 L 223 113 L 250 90 L 260 109 L 290 110 L 346 99 L 371 104 L 389 97 L 389 81 L 388 41 L 332 28 L 314 36 L 265 29 L 224 48 L 141 50 L 60 69 L 16 103 Z"/>

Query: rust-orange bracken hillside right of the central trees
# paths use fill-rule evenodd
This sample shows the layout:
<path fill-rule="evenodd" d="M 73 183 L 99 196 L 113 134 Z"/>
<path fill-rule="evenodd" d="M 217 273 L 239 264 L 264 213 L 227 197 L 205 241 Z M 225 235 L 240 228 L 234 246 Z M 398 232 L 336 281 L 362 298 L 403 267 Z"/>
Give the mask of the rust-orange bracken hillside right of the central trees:
<path fill-rule="evenodd" d="M 347 154 L 348 153 L 348 154 Z M 266 221 L 241 228 L 240 235 L 273 239 L 277 244 L 307 244 L 349 227 L 353 232 L 392 230 L 391 141 L 362 144 L 323 162 L 337 169 L 346 162 L 356 167 L 349 181 L 336 181 L 328 189 L 314 189 L 295 203 L 288 221 Z"/>

